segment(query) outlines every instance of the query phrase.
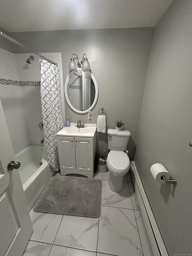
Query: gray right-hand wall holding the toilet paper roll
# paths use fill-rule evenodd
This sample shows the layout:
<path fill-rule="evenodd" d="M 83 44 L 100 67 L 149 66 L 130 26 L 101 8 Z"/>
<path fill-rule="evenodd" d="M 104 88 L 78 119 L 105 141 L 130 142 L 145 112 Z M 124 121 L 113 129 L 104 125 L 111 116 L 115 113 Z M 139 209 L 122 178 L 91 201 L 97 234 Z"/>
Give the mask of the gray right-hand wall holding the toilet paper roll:
<path fill-rule="evenodd" d="M 169 255 L 191 253 L 192 1 L 176 0 L 155 28 L 135 155 Z M 150 173 L 164 164 L 177 186 Z"/>

